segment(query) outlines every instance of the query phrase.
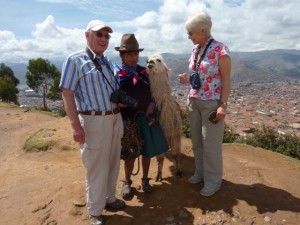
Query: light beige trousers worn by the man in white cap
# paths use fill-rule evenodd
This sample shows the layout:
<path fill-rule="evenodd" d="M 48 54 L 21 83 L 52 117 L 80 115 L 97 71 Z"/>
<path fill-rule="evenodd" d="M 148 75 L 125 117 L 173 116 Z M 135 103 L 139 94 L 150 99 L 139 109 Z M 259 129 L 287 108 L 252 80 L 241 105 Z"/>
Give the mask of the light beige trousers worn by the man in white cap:
<path fill-rule="evenodd" d="M 101 215 L 106 202 L 116 199 L 120 170 L 121 114 L 107 116 L 79 115 L 85 131 L 81 156 L 86 168 L 87 209 L 91 215 Z"/>

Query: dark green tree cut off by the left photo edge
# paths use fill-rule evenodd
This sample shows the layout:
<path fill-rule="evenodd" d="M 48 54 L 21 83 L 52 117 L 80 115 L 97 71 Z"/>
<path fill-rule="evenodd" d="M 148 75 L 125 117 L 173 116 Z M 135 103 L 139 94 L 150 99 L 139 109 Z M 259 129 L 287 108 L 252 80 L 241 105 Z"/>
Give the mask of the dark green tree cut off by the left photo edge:
<path fill-rule="evenodd" d="M 4 63 L 0 64 L 0 98 L 5 102 L 18 103 L 17 85 L 19 79 L 14 76 L 14 72 Z"/>

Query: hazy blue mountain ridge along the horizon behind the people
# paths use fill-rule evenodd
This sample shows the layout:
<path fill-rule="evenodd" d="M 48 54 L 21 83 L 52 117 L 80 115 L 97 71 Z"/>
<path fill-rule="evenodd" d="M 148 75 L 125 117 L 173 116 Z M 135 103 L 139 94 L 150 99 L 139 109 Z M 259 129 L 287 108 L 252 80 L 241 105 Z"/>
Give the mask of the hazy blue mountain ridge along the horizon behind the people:
<path fill-rule="evenodd" d="M 177 74 L 187 72 L 190 54 L 161 53 L 171 69 L 171 84 L 177 82 Z M 269 83 L 300 80 L 300 50 L 277 49 L 258 52 L 231 52 L 232 83 Z M 120 63 L 119 56 L 110 59 Z M 139 63 L 146 65 L 146 56 L 140 56 Z M 50 60 L 49 60 L 50 61 Z M 51 63 L 61 71 L 63 61 L 52 60 Z M 5 62 L 4 62 L 5 63 Z M 26 84 L 26 63 L 5 63 L 9 66 L 20 84 Z M 176 82 L 175 82 L 176 80 Z"/>

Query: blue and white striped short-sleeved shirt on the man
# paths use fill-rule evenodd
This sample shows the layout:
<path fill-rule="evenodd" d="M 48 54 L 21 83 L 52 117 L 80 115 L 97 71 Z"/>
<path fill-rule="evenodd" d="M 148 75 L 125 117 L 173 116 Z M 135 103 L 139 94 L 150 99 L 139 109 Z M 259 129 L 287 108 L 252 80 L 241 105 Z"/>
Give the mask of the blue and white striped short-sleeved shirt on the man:
<path fill-rule="evenodd" d="M 103 73 L 97 70 L 85 50 L 76 52 L 69 55 L 63 64 L 59 87 L 74 91 L 77 111 L 113 110 L 117 106 L 110 101 L 110 95 L 119 88 L 114 78 L 114 67 L 106 56 L 99 58 L 91 52 L 101 65 Z"/>

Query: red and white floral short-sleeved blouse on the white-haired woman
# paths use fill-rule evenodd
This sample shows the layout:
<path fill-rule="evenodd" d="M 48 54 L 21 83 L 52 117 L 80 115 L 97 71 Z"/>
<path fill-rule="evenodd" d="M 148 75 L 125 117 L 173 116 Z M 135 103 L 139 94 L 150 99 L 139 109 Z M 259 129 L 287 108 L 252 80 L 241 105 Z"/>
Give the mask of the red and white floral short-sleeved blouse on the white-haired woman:
<path fill-rule="evenodd" d="M 211 38 L 212 37 L 210 37 L 210 39 Z M 206 45 L 209 40 L 206 42 Z M 193 49 L 189 59 L 190 72 L 194 71 L 194 58 L 197 47 Z M 202 51 L 200 51 L 199 54 L 202 55 Z M 222 75 L 218 62 L 223 55 L 230 55 L 228 47 L 221 42 L 213 40 L 199 65 L 201 87 L 199 89 L 192 89 L 192 87 L 190 87 L 188 98 L 198 98 L 201 100 L 221 99 Z"/>

